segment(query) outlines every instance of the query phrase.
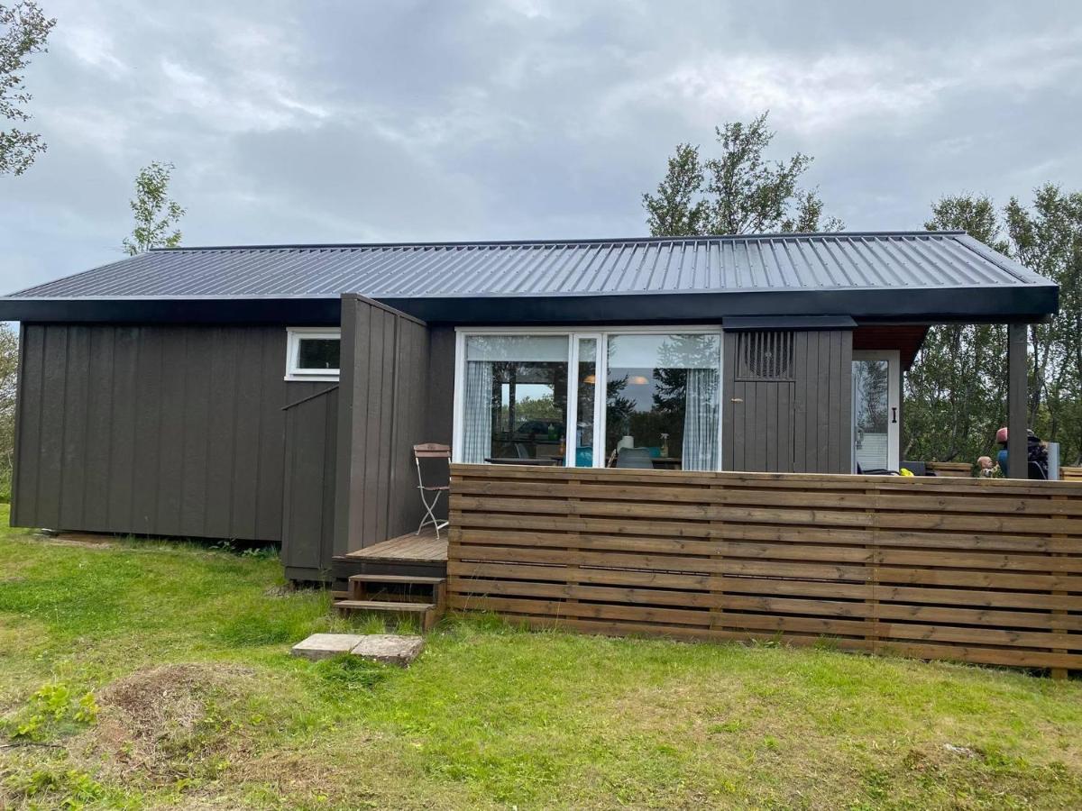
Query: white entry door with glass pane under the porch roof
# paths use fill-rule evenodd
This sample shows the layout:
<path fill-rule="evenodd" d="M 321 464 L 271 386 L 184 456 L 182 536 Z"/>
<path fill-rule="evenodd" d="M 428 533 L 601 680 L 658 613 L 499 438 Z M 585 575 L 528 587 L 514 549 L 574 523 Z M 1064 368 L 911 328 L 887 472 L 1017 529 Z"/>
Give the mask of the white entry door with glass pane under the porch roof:
<path fill-rule="evenodd" d="M 897 470 L 901 370 L 897 350 L 853 353 L 853 471 Z"/>

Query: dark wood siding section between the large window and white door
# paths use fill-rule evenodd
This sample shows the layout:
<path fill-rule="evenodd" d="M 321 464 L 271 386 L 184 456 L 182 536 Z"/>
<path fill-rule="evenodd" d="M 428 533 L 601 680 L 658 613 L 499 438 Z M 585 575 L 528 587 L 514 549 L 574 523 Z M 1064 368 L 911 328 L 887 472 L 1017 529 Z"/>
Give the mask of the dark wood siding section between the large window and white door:
<path fill-rule="evenodd" d="M 852 332 L 792 332 L 779 380 L 741 377 L 740 334 L 725 333 L 723 469 L 850 473 Z"/>

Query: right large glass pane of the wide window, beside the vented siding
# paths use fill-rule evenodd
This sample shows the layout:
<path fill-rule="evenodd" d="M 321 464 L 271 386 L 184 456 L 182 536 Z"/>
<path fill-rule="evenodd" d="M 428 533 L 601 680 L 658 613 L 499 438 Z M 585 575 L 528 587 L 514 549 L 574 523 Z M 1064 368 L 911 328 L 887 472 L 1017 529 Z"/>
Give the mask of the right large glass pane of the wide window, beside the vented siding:
<path fill-rule="evenodd" d="M 606 464 L 717 469 L 717 335 L 612 335 Z"/>

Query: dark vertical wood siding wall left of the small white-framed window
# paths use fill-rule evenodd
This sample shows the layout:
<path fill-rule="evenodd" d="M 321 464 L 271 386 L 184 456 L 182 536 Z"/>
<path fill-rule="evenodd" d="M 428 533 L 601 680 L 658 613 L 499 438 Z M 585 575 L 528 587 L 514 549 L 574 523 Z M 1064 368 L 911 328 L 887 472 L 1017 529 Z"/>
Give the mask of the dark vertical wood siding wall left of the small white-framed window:
<path fill-rule="evenodd" d="M 12 523 L 281 539 L 286 327 L 25 324 Z"/>

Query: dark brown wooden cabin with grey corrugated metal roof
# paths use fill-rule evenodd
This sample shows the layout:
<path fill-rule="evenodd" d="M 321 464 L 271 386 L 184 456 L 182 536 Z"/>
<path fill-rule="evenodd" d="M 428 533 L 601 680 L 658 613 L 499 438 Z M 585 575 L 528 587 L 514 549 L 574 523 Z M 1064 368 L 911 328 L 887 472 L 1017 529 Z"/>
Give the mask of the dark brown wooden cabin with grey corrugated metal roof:
<path fill-rule="evenodd" d="M 928 325 L 1010 324 L 1025 435 L 1025 325 L 1057 293 L 959 231 L 153 250 L 0 298 L 11 521 L 276 544 L 295 581 L 441 571 L 446 546 L 364 555 L 422 518 L 417 443 L 536 473 L 897 471 Z"/>

